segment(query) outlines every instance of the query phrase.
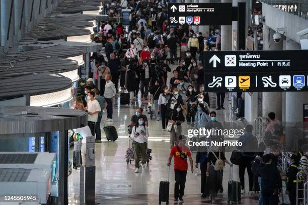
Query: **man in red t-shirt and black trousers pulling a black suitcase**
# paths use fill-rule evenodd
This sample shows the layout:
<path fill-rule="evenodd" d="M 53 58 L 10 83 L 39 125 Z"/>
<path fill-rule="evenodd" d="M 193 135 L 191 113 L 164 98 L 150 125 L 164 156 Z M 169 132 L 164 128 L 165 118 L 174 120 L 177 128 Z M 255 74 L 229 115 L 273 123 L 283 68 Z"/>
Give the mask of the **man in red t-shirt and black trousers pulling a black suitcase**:
<path fill-rule="evenodd" d="M 180 142 L 177 146 L 174 146 L 171 149 L 168 161 L 168 166 L 170 166 L 172 157 L 174 156 L 174 175 L 176 181 L 174 184 L 174 201 L 179 200 L 180 203 L 184 202 L 183 195 L 188 169 L 187 157 L 189 159 L 191 173 L 194 172 L 193 160 L 191 158 L 190 150 L 187 146 L 185 146 L 186 139 L 187 138 L 185 137 L 185 135 L 179 136 Z"/>

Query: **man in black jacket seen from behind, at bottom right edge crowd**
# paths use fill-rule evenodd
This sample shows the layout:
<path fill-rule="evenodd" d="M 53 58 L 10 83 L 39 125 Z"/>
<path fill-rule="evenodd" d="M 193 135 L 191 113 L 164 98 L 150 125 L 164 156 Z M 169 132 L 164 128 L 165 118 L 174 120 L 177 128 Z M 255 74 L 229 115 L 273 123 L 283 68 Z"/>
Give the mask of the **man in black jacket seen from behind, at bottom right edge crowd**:
<path fill-rule="evenodd" d="M 278 195 L 282 188 L 282 181 L 277 166 L 272 164 L 272 158 L 266 154 L 262 159 L 264 166 L 258 168 L 261 176 L 261 193 L 263 205 L 276 205 L 279 202 Z"/>

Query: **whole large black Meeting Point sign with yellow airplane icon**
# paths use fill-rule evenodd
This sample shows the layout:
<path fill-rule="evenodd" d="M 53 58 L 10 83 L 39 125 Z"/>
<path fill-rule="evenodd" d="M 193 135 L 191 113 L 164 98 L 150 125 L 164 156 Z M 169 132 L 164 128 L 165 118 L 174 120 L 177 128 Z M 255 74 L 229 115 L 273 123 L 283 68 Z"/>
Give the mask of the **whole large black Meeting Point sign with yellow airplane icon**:
<path fill-rule="evenodd" d="M 208 92 L 308 91 L 308 50 L 204 53 Z"/>

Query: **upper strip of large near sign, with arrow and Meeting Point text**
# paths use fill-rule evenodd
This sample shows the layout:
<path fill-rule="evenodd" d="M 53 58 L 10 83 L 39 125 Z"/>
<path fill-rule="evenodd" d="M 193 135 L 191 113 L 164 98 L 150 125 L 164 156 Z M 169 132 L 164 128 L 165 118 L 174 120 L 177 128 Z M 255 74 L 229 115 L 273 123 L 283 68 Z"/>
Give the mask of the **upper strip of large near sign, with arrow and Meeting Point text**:
<path fill-rule="evenodd" d="M 308 50 L 204 52 L 205 72 L 307 70 Z"/>

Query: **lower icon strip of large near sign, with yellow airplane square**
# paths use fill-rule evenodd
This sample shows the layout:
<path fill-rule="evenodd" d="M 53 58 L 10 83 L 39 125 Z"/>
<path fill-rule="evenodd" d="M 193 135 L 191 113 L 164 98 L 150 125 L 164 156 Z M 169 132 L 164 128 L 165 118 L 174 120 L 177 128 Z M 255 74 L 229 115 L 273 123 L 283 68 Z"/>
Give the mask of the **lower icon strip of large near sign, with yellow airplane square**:
<path fill-rule="evenodd" d="M 306 72 L 233 72 L 205 73 L 207 92 L 308 91 Z"/>

